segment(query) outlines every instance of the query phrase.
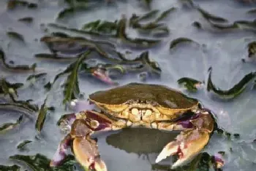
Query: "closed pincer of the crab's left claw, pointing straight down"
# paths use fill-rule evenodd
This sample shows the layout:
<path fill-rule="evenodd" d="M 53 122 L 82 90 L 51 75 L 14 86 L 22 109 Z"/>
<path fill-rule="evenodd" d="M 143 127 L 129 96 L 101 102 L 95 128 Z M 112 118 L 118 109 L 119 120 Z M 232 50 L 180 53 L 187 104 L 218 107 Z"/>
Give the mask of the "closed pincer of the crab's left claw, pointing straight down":
<path fill-rule="evenodd" d="M 99 157 L 98 146 L 95 140 L 75 138 L 73 152 L 78 162 L 85 170 L 107 171 L 105 162 Z"/>

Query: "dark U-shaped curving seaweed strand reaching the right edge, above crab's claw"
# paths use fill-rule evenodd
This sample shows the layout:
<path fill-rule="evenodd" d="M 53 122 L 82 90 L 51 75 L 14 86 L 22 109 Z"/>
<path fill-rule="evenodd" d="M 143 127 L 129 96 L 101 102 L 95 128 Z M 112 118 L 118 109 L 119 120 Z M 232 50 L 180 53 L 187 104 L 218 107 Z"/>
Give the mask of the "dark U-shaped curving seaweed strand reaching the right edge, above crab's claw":
<path fill-rule="evenodd" d="M 208 92 L 214 92 L 216 95 L 218 95 L 219 98 L 230 100 L 233 98 L 236 98 L 238 95 L 240 95 L 248 84 L 255 80 L 256 72 L 251 72 L 246 74 L 243 79 L 241 79 L 237 84 L 235 84 L 230 90 L 221 90 L 216 85 L 213 84 L 211 81 L 211 71 L 212 68 L 208 69 L 208 81 L 207 81 L 207 87 L 206 90 Z"/>

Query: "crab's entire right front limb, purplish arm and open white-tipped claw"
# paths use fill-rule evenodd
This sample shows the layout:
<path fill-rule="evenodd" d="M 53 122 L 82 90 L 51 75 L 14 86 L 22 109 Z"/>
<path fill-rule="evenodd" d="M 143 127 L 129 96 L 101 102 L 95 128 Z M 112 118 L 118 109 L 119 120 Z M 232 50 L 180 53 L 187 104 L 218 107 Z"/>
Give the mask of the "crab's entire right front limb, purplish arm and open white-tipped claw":
<path fill-rule="evenodd" d="M 159 125 L 161 126 L 161 125 Z M 166 130 L 166 127 L 159 127 L 159 130 Z M 207 111 L 200 111 L 200 114 L 189 119 L 189 121 L 181 121 L 171 127 L 173 130 L 183 130 L 175 141 L 168 143 L 162 149 L 156 162 L 162 161 L 167 156 L 178 154 L 178 160 L 173 164 L 172 168 L 176 168 L 187 162 L 190 162 L 208 143 L 211 132 L 214 130 L 214 119 Z"/>

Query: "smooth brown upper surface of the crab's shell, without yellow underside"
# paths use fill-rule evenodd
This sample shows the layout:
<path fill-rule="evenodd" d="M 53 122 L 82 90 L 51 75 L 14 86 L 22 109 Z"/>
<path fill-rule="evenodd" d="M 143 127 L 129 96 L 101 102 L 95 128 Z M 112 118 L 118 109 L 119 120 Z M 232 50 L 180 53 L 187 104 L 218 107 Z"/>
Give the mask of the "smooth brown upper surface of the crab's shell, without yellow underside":
<path fill-rule="evenodd" d="M 89 95 L 89 99 L 106 106 L 119 106 L 126 103 L 151 103 L 170 109 L 186 109 L 197 106 L 198 100 L 168 87 L 158 84 L 130 83 L 106 91 Z"/>

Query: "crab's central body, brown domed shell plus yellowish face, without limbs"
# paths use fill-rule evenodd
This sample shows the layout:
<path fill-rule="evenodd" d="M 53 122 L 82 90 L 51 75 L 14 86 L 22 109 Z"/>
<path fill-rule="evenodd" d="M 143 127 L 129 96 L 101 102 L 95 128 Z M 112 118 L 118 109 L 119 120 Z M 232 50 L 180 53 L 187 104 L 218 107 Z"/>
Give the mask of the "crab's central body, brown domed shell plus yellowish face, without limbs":
<path fill-rule="evenodd" d="M 105 114 L 140 124 L 173 121 L 200 104 L 168 87 L 138 83 L 95 92 L 89 95 L 89 100 Z"/>

